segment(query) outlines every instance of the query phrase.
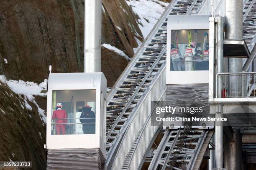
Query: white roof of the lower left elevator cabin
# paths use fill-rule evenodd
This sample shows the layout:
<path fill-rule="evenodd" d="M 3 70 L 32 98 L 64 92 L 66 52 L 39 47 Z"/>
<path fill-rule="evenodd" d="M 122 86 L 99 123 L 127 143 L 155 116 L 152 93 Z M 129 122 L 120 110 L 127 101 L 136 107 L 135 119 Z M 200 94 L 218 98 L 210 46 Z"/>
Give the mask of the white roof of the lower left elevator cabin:
<path fill-rule="evenodd" d="M 51 73 L 48 80 L 49 90 L 81 90 L 100 88 L 102 72 Z"/>

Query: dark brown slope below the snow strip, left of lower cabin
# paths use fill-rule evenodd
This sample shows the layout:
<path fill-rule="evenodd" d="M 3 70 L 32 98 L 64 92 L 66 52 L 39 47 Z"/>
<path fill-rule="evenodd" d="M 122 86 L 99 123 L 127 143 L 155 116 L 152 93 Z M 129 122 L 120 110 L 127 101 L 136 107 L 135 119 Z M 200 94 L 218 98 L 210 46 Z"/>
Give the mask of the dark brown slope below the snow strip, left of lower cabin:
<path fill-rule="evenodd" d="M 0 161 L 32 161 L 34 170 L 45 170 L 46 124 L 41 118 L 34 102 L 0 80 Z"/>

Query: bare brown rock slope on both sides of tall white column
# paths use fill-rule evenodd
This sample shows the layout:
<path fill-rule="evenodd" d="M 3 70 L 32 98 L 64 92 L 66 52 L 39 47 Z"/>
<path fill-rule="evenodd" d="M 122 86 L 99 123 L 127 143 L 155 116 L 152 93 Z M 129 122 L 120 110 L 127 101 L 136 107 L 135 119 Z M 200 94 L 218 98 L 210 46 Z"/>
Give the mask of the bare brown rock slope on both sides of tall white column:
<path fill-rule="evenodd" d="M 102 5 L 102 43 L 133 57 L 133 47 L 138 46 L 134 37 L 142 37 L 136 16 L 125 0 L 102 0 Z M 83 71 L 83 0 L 1 0 L 0 11 L 0 74 L 42 82 L 49 65 L 53 72 Z M 120 70 L 105 69 L 105 57 L 102 53 L 105 75 L 110 73 L 106 70 Z"/>

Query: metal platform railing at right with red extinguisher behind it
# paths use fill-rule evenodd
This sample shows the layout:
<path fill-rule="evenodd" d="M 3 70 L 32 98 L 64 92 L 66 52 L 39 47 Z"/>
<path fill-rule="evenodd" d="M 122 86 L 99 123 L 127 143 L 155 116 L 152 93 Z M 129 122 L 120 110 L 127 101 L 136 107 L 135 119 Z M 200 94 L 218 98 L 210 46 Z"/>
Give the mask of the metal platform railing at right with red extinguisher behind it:
<path fill-rule="evenodd" d="M 256 97 L 255 78 L 256 72 L 218 73 L 216 75 L 216 97 Z"/>

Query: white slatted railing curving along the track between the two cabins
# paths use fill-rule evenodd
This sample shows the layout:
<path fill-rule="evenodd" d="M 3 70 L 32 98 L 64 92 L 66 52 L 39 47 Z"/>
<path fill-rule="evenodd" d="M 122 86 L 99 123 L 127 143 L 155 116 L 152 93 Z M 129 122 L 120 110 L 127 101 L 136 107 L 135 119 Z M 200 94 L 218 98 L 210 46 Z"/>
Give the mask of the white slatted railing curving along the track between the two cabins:
<path fill-rule="evenodd" d="M 158 77 L 155 82 L 152 83 L 151 89 L 148 90 L 146 97 L 141 101 L 136 107 L 136 112 L 134 117 L 131 119 L 131 123 L 128 126 L 123 140 L 120 143 L 120 147 L 117 151 L 117 154 L 114 159 L 114 163 L 111 169 L 120 170 L 122 169 L 123 162 L 129 153 L 129 150 L 133 144 L 134 139 L 137 137 L 137 134 L 141 130 L 142 125 L 151 116 L 151 101 L 159 101 L 162 98 L 166 90 L 166 68 L 163 65 L 161 72 L 159 72 Z M 150 88 L 150 87 L 149 87 Z M 146 153 L 149 143 L 156 133 L 158 126 L 151 127 L 151 120 L 146 124 L 146 129 L 143 130 L 143 134 L 138 143 L 137 149 L 133 155 L 133 158 L 130 163 L 130 168 L 138 169 L 138 166 L 141 163 L 141 160 Z M 137 168 L 135 168 L 137 167 Z"/>

